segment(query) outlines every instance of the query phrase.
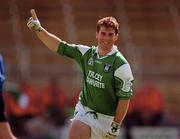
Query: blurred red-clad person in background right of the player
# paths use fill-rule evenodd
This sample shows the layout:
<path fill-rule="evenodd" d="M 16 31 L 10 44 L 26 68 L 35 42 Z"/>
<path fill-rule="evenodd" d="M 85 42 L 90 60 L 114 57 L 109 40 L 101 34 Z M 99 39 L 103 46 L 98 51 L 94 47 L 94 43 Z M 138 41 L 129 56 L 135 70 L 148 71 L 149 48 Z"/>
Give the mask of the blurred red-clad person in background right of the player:
<path fill-rule="evenodd" d="M 158 126 L 163 122 L 162 93 L 153 85 L 144 85 L 134 97 L 139 126 Z"/>

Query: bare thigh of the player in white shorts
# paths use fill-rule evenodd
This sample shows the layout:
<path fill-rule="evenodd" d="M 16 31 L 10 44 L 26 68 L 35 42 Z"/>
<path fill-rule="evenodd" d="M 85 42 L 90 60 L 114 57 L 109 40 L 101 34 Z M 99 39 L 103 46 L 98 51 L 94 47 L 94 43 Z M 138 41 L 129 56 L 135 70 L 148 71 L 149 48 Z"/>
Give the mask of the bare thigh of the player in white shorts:
<path fill-rule="evenodd" d="M 79 120 L 73 120 L 68 133 L 68 139 L 89 139 L 91 128 Z"/>

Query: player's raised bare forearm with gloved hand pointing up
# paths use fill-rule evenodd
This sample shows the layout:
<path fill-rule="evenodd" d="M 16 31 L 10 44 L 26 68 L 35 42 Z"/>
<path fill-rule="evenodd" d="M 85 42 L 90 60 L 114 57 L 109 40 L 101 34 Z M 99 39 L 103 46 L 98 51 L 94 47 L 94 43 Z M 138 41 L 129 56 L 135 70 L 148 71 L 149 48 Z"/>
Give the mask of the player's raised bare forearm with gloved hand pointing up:
<path fill-rule="evenodd" d="M 28 28 L 36 32 L 38 38 L 45 44 L 45 46 L 56 52 L 58 50 L 61 39 L 49 33 L 41 26 L 34 9 L 31 9 L 30 13 L 32 17 L 30 17 L 28 20 Z"/>

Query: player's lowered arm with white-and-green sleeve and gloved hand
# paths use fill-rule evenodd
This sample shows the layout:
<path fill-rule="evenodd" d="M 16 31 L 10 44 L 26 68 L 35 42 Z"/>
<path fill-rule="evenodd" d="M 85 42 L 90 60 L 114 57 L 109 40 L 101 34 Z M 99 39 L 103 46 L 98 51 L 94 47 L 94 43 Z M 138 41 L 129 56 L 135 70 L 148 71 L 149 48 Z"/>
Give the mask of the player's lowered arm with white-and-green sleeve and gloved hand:
<path fill-rule="evenodd" d="M 129 64 L 121 65 L 114 73 L 116 95 L 119 101 L 116 106 L 114 119 L 111 123 L 111 129 L 107 133 L 107 139 L 115 139 L 119 134 L 121 123 L 123 122 L 130 97 L 132 96 L 132 81 L 133 75 Z"/>

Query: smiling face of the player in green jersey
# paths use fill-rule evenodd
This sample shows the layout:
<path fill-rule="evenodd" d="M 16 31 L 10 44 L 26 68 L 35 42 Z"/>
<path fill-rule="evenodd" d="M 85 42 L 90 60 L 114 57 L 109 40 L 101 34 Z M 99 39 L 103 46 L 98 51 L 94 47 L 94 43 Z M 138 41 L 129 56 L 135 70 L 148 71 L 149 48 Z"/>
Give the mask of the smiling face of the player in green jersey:
<path fill-rule="evenodd" d="M 96 38 L 98 40 L 98 46 L 101 49 L 109 50 L 118 39 L 118 35 L 115 34 L 113 28 L 100 27 L 99 32 L 96 32 Z"/>

